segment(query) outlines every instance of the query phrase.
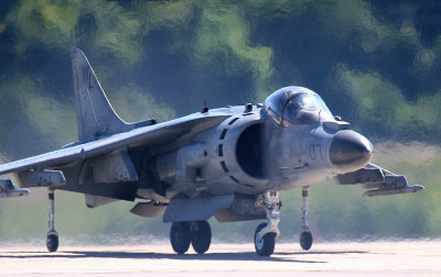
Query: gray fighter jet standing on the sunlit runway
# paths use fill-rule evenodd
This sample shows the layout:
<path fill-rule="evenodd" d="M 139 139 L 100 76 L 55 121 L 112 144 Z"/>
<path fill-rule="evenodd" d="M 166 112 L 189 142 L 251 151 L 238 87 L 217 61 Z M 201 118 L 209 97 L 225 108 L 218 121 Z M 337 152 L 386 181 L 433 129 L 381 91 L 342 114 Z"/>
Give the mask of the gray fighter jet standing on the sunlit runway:
<path fill-rule="evenodd" d="M 21 188 L 47 187 L 50 252 L 58 246 L 57 189 L 84 193 L 90 208 L 139 199 L 131 212 L 172 222 L 170 240 L 180 254 L 191 244 L 197 253 L 208 250 L 213 215 L 220 222 L 266 219 L 254 237 L 262 256 L 273 253 L 279 236 L 280 191 L 301 188 L 300 244 L 309 250 L 309 186 L 334 177 L 341 185 L 361 184 L 368 189 L 365 197 L 423 189 L 369 164 L 370 142 L 334 118 L 310 89 L 286 87 L 262 104 L 205 107 L 168 122 L 127 123 L 115 113 L 83 52 L 74 47 L 71 55 L 78 141 L 0 166 L 0 175 L 13 173 Z M 0 196 L 11 196 L 11 180 L 0 184 Z"/>

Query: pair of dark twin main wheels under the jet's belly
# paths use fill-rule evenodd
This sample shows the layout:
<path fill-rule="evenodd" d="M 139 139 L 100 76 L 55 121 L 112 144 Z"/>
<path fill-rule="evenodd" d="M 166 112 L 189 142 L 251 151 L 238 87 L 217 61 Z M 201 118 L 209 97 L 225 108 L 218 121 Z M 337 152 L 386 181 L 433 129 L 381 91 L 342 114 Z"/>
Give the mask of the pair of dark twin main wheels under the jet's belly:
<path fill-rule="evenodd" d="M 190 244 L 197 254 L 204 254 L 212 243 L 212 229 L 207 221 L 173 222 L 170 242 L 174 252 L 184 254 Z"/>

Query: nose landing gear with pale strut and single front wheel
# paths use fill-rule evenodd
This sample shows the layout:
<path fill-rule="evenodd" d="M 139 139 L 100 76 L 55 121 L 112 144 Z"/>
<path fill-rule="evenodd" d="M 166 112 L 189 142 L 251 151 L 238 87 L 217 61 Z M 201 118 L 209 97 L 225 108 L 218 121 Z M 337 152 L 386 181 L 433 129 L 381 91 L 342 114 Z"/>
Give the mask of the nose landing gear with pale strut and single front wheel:
<path fill-rule="evenodd" d="M 261 223 L 255 232 L 255 248 L 259 256 L 270 256 L 275 252 L 276 237 L 280 231 L 278 224 L 280 222 L 280 198 L 279 191 L 267 191 L 260 195 L 258 202 L 263 206 L 267 212 L 268 223 Z"/>

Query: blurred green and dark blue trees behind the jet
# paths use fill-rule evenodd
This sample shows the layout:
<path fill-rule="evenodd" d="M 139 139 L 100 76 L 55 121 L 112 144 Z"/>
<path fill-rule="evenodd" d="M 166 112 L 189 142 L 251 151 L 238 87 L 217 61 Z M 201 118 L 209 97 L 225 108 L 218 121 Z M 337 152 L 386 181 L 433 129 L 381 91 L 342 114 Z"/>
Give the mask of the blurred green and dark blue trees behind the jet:
<path fill-rule="evenodd" d="M 417 195 L 363 199 L 356 186 L 314 186 L 316 237 L 440 237 L 441 2 L 1 1 L 3 160 L 76 141 L 73 45 L 85 52 L 127 121 L 169 120 L 198 111 L 204 101 L 261 102 L 290 85 L 315 90 L 375 143 L 375 163 L 427 187 Z M 151 243 L 168 236 L 160 219 L 128 213 L 133 203 L 89 210 L 80 195 L 57 195 L 62 240 Z M 282 195 L 281 240 L 297 241 L 300 195 Z M 2 200 L 2 241 L 37 237 L 43 244 L 45 209 L 44 190 Z M 215 240 L 251 241 L 257 222 L 213 225 Z"/>

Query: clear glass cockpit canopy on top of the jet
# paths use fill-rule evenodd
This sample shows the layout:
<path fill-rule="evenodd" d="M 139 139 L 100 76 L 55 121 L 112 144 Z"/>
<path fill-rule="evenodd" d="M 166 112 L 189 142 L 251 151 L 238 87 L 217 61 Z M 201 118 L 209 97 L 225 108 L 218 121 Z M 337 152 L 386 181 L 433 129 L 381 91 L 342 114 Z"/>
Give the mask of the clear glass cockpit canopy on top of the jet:
<path fill-rule="evenodd" d="M 283 126 L 334 120 L 322 98 L 302 87 L 277 90 L 265 100 L 263 110 L 276 123 Z"/>

